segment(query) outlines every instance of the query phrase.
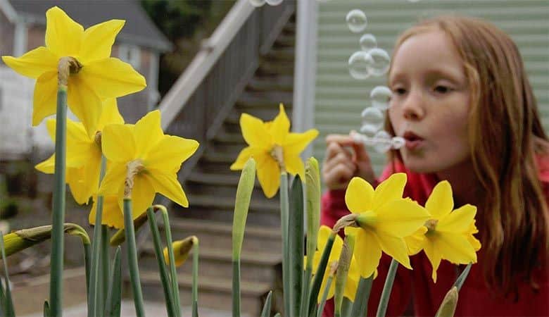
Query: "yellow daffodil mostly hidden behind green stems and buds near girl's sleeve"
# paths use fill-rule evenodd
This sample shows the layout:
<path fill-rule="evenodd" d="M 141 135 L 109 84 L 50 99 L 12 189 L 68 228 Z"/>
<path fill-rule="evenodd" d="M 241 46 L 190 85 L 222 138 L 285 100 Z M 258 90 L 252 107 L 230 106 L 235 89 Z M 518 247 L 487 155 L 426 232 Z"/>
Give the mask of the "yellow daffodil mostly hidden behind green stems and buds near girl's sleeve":
<path fill-rule="evenodd" d="M 315 254 L 313 255 L 313 274 L 317 271 L 318 265 L 320 263 L 320 258 L 322 257 L 322 251 L 324 251 L 324 247 L 326 247 L 326 242 L 331 232 L 332 232 L 332 229 L 330 229 L 326 225 L 320 226 L 318 230 L 318 238 L 317 238 L 318 249 L 317 251 L 315 251 Z M 324 294 L 324 289 L 326 288 L 326 284 L 329 277 L 330 266 L 332 265 L 332 263 L 339 261 L 339 256 L 341 255 L 341 249 L 343 249 L 343 240 L 341 239 L 341 237 L 339 237 L 339 235 L 336 235 L 336 240 L 334 240 L 334 245 L 332 246 L 332 251 L 330 251 L 330 255 L 328 258 L 326 271 L 324 272 L 324 276 L 322 277 L 320 292 L 318 292 L 317 301 L 319 303 L 320 303 L 320 300 L 322 299 L 322 294 Z M 305 256 L 303 260 L 304 260 L 304 263 L 306 263 L 307 256 Z M 334 278 L 335 278 L 335 275 L 334 275 Z M 351 265 L 349 266 L 347 281 L 345 282 L 345 290 L 343 290 L 343 296 L 350 299 L 351 302 L 355 302 L 355 294 L 356 294 L 356 289 L 358 287 L 359 278 L 360 278 L 360 270 L 358 268 L 357 261 L 355 261 L 355 257 L 353 256 L 353 258 L 351 259 Z M 336 290 L 336 283 L 334 281 L 332 282 L 328 290 L 327 299 L 331 299 L 332 297 L 334 297 L 335 290 Z"/>

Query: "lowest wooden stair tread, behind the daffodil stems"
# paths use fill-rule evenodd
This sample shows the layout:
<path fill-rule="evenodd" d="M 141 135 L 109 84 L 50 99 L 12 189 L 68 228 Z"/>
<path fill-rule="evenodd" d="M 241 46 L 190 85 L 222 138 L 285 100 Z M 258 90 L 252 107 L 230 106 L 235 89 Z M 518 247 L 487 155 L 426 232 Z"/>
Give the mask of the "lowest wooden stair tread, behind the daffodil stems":
<path fill-rule="evenodd" d="M 160 284 L 158 272 L 156 271 L 141 271 L 141 282 L 143 284 Z M 191 287 L 192 274 L 177 273 L 177 281 L 179 287 Z M 240 281 L 241 294 L 245 296 L 261 296 L 272 289 L 271 283 L 268 282 L 253 282 L 248 280 Z M 215 292 L 232 292 L 232 277 L 227 278 L 209 278 L 208 276 L 198 277 L 198 290 L 212 290 Z"/>

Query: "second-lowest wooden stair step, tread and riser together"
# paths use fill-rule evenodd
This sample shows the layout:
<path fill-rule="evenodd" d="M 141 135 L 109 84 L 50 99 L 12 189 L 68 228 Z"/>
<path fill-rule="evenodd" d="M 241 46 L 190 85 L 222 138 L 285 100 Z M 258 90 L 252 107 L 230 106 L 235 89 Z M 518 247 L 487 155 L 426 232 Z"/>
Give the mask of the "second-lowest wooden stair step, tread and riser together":
<path fill-rule="evenodd" d="M 200 240 L 201 238 L 198 237 Z M 282 263 L 282 245 L 273 252 L 265 251 L 242 251 L 241 253 L 241 280 L 253 282 L 274 283 L 280 271 Z M 232 277 L 232 248 L 213 249 L 200 242 L 200 267 L 198 278 L 230 278 Z M 139 267 L 143 270 L 158 270 L 158 261 L 152 242 L 144 246 L 139 259 Z M 180 273 L 192 274 L 192 261 L 189 257 L 188 263 L 178 268 Z"/>

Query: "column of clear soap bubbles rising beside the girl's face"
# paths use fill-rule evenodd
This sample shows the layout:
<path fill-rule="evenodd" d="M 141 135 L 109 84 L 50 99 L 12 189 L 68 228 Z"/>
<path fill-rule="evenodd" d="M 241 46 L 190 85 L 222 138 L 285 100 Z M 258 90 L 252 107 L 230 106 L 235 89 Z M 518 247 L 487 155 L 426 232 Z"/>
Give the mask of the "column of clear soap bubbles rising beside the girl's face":
<path fill-rule="evenodd" d="M 368 20 L 364 12 L 358 9 L 349 11 L 346 16 L 349 30 L 353 33 L 364 31 Z M 377 47 L 377 39 L 367 33 L 360 37 L 360 51 L 355 51 L 348 61 L 349 74 L 356 80 L 365 80 L 372 76 L 383 76 L 389 70 L 391 57 L 384 50 Z M 362 111 L 362 125 L 360 133 L 353 132 L 351 136 L 358 142 L 363 142 L 380 153 L 389 149 L 400 149 L 405 144 L 402 137 L 391 137 L 382 130 L 385 122 L 385 111 L 389 108 L 391 90 L 385 86 L 377 86 L 370 92 L 371 106 Z"/>

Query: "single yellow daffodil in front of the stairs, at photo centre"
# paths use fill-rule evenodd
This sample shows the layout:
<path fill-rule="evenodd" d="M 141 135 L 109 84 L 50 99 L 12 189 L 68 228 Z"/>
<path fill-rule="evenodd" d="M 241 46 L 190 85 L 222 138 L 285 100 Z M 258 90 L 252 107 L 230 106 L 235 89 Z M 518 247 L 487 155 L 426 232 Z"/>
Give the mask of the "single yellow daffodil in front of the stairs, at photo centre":
<path fill-rule="evenodd" d="M 290 120 L 282 104 L 277 117 L 265 123 L 243 113 L 240 117 L 240 128 L 248 147 L 240 152 L 231 170 L 241 170 L 246 161 L 253 157 L 257 162 L 259 183 L 268 198 L 277 193 L 282 171 L 291 175 L 299 174 L 302 180 L 305 179 L 305 167 L 299 155 L 317 137 L 318 130 L 289 132 Z"/>

